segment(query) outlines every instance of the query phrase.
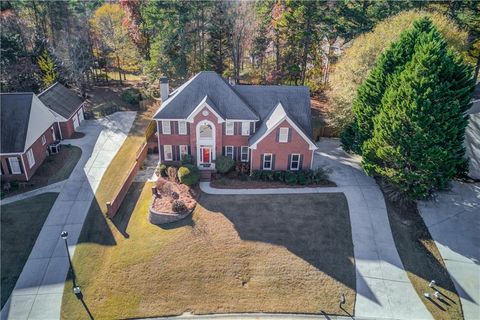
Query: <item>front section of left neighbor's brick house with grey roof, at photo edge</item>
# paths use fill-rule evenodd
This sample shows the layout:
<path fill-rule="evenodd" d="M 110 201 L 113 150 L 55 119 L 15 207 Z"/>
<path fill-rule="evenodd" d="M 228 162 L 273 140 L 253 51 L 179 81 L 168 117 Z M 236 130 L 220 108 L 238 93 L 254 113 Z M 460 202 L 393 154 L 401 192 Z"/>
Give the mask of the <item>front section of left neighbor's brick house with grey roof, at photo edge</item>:
<path fill-rule="evenodd" d="M 34 93 L 0 94 L 1 178 L 28 181 L 57 140 L 55 117 Z"/>

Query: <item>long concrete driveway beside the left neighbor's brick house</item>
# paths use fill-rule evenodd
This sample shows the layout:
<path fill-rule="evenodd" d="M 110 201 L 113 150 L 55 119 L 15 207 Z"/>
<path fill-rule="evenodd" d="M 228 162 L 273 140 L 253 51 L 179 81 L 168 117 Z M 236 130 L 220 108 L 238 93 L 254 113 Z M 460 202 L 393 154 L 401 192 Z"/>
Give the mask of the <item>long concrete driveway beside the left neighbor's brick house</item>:
<path fill-rule="evenodd" d="M 2 319 L 60 318 L 69 266 L 60 233 L 68 231 L 73 255 L 98 184 L 130 131 L 135 114 L 117 112 L 104 119 L 84 121 L 79 129 L 86 133 L 85 137 L 63 141 L 80 147 L 82 156 L 63 182 L 15 289 L 2 309 Z"/>

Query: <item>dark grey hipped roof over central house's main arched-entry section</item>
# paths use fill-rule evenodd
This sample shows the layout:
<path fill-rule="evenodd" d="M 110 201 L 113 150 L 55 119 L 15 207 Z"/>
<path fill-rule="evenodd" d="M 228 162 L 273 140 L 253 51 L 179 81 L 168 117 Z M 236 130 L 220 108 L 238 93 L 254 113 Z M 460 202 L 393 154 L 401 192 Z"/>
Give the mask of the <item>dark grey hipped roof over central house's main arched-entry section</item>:
<path fill-rule="evenodd" d="M 259 120 L 237 92 L 213 71 L 199 72 L 173 91 L 153 118 L 186 119 L 206 97 L 223 119 Z"/>

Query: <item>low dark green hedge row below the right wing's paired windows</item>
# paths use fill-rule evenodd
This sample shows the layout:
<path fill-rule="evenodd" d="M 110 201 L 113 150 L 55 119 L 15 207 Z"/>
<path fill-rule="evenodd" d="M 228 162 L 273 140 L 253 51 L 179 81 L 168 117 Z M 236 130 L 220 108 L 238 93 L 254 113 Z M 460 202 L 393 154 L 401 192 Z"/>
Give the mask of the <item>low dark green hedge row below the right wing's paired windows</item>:
<path fill-rule="evenodd" d="M 253 170 L 252 179 L 261 181 L 279 181 L 290 185 L 319 184 L 327 180 L 323 169 L 298 171 Z"/>

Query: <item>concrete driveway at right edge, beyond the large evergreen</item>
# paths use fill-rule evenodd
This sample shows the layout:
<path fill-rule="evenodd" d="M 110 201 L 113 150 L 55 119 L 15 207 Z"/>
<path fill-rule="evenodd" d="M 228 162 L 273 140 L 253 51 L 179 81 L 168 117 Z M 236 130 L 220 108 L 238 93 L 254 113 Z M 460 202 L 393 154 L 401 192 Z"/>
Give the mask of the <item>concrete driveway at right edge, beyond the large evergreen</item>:
<path fill-rule="evenodd" d="M 445 261 L 466 320 L 480 319 L 480 183 L 452 182 L 418 209 Z"/>

